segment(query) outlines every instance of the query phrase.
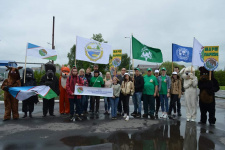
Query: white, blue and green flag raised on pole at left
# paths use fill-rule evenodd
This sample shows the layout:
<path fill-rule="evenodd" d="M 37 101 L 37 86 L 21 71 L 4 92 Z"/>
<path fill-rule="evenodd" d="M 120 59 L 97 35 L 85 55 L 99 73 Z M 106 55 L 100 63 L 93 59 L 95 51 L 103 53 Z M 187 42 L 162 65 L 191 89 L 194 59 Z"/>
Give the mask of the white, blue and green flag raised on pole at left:
<path fill-rule="evenodd" d="M 54 49 L 47 49 L 35 44 L 27 44 L 27 56 L 38 57 L 56 61 L 57 53 Z"/>

